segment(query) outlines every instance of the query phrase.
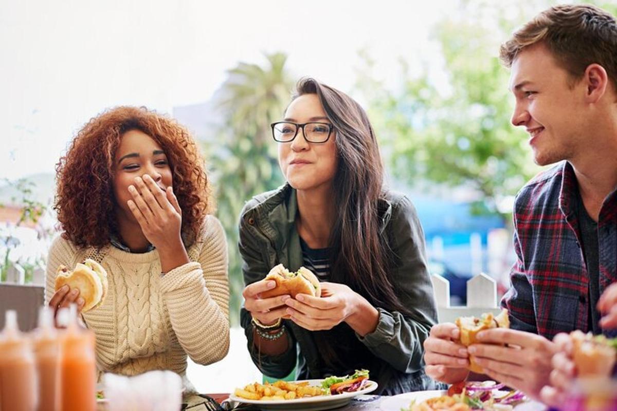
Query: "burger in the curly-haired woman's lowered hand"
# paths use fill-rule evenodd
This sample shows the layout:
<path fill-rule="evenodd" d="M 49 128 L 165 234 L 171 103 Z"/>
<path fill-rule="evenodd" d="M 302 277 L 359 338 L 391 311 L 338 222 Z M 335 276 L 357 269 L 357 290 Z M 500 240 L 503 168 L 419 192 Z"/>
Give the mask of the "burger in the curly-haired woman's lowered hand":
<path fill-rule="evenodd" d="M 77 263 L 73 271 L 65 266 L 59 266 L 56 275 L 56 291 L 64 285 L 79 290 L 80 297 L 85 301 L 81 312 L 89 311 L 101 305 L 109 287 L 107 272 L 101 267 L 101 264 L 93 259 L 86 259 L 83 264 Z"/>

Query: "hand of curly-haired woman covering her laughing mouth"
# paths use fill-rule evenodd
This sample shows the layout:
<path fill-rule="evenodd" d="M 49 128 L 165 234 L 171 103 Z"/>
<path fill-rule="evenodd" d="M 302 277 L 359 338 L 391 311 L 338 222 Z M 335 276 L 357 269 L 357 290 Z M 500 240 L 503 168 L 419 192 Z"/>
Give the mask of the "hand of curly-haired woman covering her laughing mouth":
<path fill-rule="evenodd" d="M 163 191 L 147 174 L 135 177 L 135 185 L 128 187 L 133 200 L 126 203 L 139 222 L 146 239 L 159 251 L 162 272 L 169 272 L 189 262 L 182 242 L 182 210 L 178 199 L 167 187 Z"/>

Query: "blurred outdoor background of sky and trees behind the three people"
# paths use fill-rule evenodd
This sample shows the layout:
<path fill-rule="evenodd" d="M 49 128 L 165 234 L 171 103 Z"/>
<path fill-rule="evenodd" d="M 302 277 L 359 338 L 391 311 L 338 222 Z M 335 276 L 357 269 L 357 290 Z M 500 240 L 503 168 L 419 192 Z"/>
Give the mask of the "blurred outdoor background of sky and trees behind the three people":
<path fill-rule="evenodd" d="M 617 14 L 616 1 L 590 2 Z M 503 293 L 514 196 L 540 168 L 510 124 L 497 55 L 513 29 L 557 3 L 0 2 L 0 282 L 41 282 L 57 235 L 54 166 L 78 129 L 106 108 L 143 105 L 201 142 L 237 327 L 239 211 L 283 183 L 269 124 L 297 79 L 313 76 L 368 111 L 387 184 L 415 203 L 431 272 L 450 280 L 452 302 L 465 304 L 465 282 L 479 272 Z M 204 392 L 228 389 L 224 368 L 256 372 L 241 331 L 232 333 L 236 362 L 189 365 Z"/>

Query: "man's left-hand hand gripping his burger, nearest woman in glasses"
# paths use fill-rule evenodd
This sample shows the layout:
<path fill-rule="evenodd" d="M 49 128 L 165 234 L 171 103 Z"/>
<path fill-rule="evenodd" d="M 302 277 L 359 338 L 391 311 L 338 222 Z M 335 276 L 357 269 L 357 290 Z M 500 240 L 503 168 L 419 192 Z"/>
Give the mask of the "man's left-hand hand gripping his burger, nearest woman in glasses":
<path fill-rule="evenodd" d="M 464 381 L 469 374 L 467 348 L 458 343 L 460 331 L 451 322 L 436 324 L 424 340 L 426 375 L 447 384 Z"/>

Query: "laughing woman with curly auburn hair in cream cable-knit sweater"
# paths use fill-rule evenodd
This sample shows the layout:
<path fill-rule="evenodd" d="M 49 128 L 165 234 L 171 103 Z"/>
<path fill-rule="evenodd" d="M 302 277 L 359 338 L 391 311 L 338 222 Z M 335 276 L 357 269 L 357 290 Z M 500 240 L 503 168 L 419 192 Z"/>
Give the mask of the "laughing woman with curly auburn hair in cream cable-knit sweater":
<path fill-rule="evenodd" d="M 92 258 L 107 271 L 100 306 L 81 313 L 96 335 L 100 372 L 168 369 L 186 356 L 212 364 L 229 347 L 225 232 L 193 138 L 146 108 L 118 107 L 90 120 L 56 166 L 62 235 L 49 251 L 46 301 L 57 310 L 79 290 L 54 292 L 60 265 Z"/>

